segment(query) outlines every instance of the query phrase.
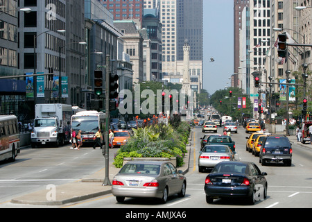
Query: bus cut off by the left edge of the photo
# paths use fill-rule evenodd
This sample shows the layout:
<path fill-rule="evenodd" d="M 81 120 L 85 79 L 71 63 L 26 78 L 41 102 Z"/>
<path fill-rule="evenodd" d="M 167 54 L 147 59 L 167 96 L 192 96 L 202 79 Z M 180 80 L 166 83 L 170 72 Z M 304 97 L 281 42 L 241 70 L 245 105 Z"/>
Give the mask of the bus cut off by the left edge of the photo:
<path fill-rule="evenodd" d="M 0 116 L 0 161 L 15 161 L 19 153 L 19 128 L 15 115 Z"/>

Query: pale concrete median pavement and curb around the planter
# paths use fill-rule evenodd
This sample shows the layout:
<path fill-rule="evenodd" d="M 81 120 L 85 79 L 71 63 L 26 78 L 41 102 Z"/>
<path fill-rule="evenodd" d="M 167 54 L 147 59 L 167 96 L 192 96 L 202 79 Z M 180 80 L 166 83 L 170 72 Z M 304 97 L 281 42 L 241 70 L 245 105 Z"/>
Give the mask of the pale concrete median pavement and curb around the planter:
<path fill-rule="evenodd" d="M 185 173 L 189 171 L 189 157 L 191 153 L 191 143 L 187 145 L 187 153 L 184 157 L 184 165 L 177 167 Z M 119 172 L 113 164 L 110 164 L 109 178 L 112 179 Z M 67 203 L 74 203 L 89 198 L 95 198 L 112 193 L 112 186 L 103 186 L 105 178 L 105 169 L 87 176 L 77 182 L 70 182 L 68 184 L 60 185 L 55 188 L 55 200 L 49 200 L 51 197 L 51 190 L 43 189 L 35 191 L 31 194 L 13 198 L 11 203 L 29 204 L 29 205 L 64 205 Z"/>

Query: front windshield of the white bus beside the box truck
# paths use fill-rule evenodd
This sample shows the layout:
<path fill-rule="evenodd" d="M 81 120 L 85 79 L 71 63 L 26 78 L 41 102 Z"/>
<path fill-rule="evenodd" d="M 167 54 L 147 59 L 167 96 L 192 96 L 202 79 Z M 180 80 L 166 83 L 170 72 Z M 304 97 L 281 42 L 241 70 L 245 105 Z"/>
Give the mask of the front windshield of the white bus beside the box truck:
<path fill-rule="evenodd" d="M 73 117 L 71 129 L 82 133 L 96 133 L 98 131 L 98 117 Z"/>

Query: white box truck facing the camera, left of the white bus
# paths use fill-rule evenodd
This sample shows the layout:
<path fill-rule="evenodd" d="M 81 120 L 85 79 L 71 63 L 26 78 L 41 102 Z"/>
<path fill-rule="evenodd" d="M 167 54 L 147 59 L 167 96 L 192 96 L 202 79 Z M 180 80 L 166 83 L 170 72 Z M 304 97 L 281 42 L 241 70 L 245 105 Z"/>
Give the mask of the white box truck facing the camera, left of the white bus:
<path fill-rule="evenodd" d="M 31 146 L 65 144 L 71 139 L 71 105 L 36 104 L 35 119 L 31 132 Z"/>

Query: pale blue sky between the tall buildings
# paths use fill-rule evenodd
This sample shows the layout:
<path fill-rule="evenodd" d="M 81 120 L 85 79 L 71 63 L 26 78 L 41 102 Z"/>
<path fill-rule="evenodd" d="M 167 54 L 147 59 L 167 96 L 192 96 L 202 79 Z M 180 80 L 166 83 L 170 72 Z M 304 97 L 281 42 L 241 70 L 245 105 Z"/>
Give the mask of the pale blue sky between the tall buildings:
<path fill-rule="evenodd" d="M 231 86 L 229 77 L 234 73 L 233 18 L 233 0 L 204 0 L 203 88 L 209 94 Z M 210 62 L 211 57 L 214 62 Z"/>

